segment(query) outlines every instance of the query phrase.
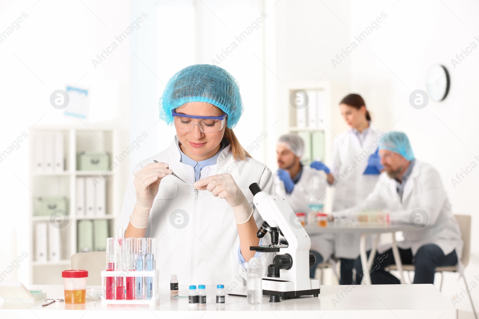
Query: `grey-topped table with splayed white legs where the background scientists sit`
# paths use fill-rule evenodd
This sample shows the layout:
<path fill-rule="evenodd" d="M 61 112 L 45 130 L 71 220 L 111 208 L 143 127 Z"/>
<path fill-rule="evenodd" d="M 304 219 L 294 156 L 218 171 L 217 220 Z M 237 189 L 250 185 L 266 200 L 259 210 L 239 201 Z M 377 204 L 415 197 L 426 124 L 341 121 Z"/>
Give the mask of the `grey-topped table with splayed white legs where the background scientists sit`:
<path fill-rule="evenodd" d="M 396 267 L 398 267 L 399 281 L 404 284 L 404 276 L 402 274 L 402 263 L 399 257 L 399 249 L 396 245 L 396 231 L 417 231 L 408 223 L 390 223 L 390 224 L 366 224 L 366 223 L 353 223 L 349 225 L 337 225 L 335 223 L 328 223 L 327 227 L 319 227 L 317 223 L 309 223 L 305 227 L 309 236 L 324 233 L 359 233 L 361 234 L 359 239 L 359 255 L 361 257 L 361 265 L 363 266 L 363 281 L 365 285 L 371 285 L 370 272 L 366 271 L 371 269 L 371 266 L 376 255 L 377 242 L 381 233 L 391 233 L 392 239 L 392 253 L 394 255 L 394 261 Z M 373 246 L 371 248 L 371 254 L 369 258 L 366 255 L 366 236 L 369 234 L 376 234 L 373 240 Z"/>

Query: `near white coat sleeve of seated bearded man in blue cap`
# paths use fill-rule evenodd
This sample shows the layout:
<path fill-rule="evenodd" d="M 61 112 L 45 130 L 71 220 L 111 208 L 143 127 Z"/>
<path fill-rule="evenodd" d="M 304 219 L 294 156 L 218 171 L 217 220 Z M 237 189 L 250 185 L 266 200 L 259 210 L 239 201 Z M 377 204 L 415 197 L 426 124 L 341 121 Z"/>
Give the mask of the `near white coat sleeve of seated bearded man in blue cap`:
<path fill-rule="evenodd" d="M 443 206 L 448 200 L 445 196 L 446 192 L 439 173 L 432 167 L 423 169 L 421 175 L 416 178 L 415 187 L 417 189 L 413 189 L 413 192 L 420 195 L 420 204 L 414 209 L 393 211 L 390 219 L 391 221 L 410 222 L 411 213 L 416 209 L 421 209 L 426 213 L 427 218 L 422 216 L 422 212 L 419 210 L 414 215 L 414 223 L 432 226 L 436 223 Z"/>

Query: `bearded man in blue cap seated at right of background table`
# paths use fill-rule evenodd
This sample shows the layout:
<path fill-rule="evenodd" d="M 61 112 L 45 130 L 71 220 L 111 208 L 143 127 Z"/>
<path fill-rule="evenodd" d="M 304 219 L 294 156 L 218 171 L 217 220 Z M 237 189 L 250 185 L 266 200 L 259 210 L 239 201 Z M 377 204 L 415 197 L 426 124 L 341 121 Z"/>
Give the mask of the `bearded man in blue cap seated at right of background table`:
<path fill-rule="evenodd" d="M 401 262 L 414 264 L 414 284 L 433 284 L 434 269 L 457 264 L 463 246 L 439 173 L 414 158 L 409 139 L 402 132 L 389 132 L 379 142 L 379 155 L 385 172 L 356 209 L 385 208 L 392 222 L 410 223 L 411 231 L 404 231 L 404 241 L 397 242 Z M 380 253 L 373 263 L 372 284 L 399 284 L 399 279 L 385 270 L 395 263 L 392 249 L 387 255 Z M 363 273 L 359 258 L 355 268 L 358 274 Z"/>

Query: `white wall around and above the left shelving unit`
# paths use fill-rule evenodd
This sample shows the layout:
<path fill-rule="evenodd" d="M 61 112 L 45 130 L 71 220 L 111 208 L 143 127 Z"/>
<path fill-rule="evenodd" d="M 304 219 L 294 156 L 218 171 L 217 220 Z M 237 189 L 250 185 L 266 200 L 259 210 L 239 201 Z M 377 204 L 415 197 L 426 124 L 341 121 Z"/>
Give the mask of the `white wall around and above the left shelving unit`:
<path fill-rule="evenodd" d="M 83 3 L 59 0 L 0 2 L 1 32 L 22 12 L 28 14 L 20 28 L 0 43 L 0 58 L 3 61 L 0 73 L 1 152 L 35 123 L 36 126 L 66 123 L 82 125 L 76 118 L 65 119 L 63 110 L 56 110 L 50 105 L 50 94 L 54 90 L 65 89 L 67 84 L 77 83 L 79 87 L 91 88 L 92 94 L 94 91 L 96 97 L 92 100 L 93 105 L 102 108 L 93 108 L 92 118 L 114 117 L 114 123 L 118 125 L 127 122 L 129 41 L 120 44 L 96 68 L 91 59 L 130 25 L 129 1 L 116 1 L 114 10 L 110 3 L 90 0 L 84 0 Z M 112 87 L 117 89 L 108 89 Z M 114 105 L 100 104 L 99 101 L 108 102 L 110 97 L 115 101 Z M 28 249 L 31 234 L 25 233 L 27 198 L 34 197 L 26 187 L 28 143 L 29 138 L 0 163 L 3 202 L 0 241 L 8 243 L 0 246 L 0 272 L 23 251 L 33 254 Z M 23 261 L 7 279 L 28 283 L 27 263 Z"/>

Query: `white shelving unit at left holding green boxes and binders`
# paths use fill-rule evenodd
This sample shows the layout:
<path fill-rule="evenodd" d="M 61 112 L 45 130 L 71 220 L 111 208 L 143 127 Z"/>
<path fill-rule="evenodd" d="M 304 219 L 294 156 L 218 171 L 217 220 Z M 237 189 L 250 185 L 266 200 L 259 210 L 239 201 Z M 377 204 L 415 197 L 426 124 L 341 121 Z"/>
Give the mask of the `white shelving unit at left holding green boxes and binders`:
<path fill-rule="evenodd" d="M 61 132 L 64 140 L 65 168 L 60 172 L 38 172 L 34 169 L 34 143 L 38 133 Z M 119 129 L 112 126 L 89 124 L 86 126 L 48 126 L 30 127 L 30 165 L 29 165 L 29 220 L 28 236 L 30 242 L 29 278 L 34 285 L 63 285 L 61 271 L 70 269 L 70 257 L 77 253 L 77 221 L 108 220 L 108 235 L 116 236 L 116 220 L 119 216 L 122 198 L 119 189 L 121 170 L 113 170 L 106 177 L 106 214 L 104 216 L 77 216 L 76 177 L 97 176 L 100 171 L 77 171 L 77 153 L 82 151 L 106 151 L 110 154 L 110 164 L 115 154 L 118 154 Z M 59 261 L 35 261 L 34 224 L 39 221 L 49 221 L 49 216 L 34 216 L 34 200 L 36 196 L 64 196 L 68 203 L 68 225 L 61 229 L 61 256 Z"/>

